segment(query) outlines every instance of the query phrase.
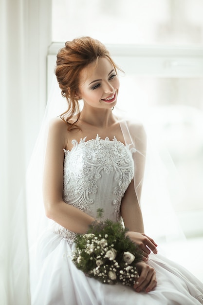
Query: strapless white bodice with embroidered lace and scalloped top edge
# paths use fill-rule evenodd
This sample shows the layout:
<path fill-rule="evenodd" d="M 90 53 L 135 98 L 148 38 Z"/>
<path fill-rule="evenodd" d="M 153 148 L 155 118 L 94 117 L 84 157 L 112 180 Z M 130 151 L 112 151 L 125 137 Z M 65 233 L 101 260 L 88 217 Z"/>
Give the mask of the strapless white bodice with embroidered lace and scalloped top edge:
<path fill-rule="evenodd" d="M 119 221 L 121 200 L 133 177 L 129 146 L 115 137 L 111 141 L 98 135 L 88 141 L 81 139 L 79 143 L 73 140 L 72 144 L 71 151 L 64 150 L 64 201 L 94 218 L 97 209 L 102 208 L 103 219 Z M 58 233 L 61 230 L 63 236 L 68 232 L 60 228 Z M 73 234 L 68 235 L 68 239 L 74 239 Z"/>

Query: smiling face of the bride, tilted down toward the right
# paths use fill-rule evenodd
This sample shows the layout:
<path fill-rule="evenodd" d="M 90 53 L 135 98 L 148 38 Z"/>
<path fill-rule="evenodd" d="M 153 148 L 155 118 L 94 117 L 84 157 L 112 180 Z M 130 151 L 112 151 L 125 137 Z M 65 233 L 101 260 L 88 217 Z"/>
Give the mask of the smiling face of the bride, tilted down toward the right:
<path fill-rule="evenodd" d="M 116 105 L 119 80 L 116 71 L 107 57 L 98 59 L 81 71 L 79 95 L 84 107 L 110 109 Z"/>

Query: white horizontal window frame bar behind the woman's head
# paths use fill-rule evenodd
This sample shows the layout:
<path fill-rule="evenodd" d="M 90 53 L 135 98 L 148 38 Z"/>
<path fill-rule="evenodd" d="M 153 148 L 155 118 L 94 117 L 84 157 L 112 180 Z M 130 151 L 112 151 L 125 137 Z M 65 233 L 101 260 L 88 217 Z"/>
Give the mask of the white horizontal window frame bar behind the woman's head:
<path fill-rule="evenodd" d="M 49 92 L 56 54 L 64 46 L 52 42 L 47 54 L 47 92 Z M 107 49 L 126 74 L 166 78 L 203 77 L 203 46 L 109 44 Z"/>

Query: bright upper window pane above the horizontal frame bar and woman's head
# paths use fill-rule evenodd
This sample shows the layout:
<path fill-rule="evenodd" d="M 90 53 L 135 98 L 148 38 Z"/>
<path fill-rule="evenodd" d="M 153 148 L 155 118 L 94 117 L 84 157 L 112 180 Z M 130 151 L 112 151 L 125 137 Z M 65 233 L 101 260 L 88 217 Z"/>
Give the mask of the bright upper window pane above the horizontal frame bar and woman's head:
<path fill-rule="evenodd" d="M 203 42 L 202 0 L 53 0 L 53 41 L 89 35 L 104 44 Z"/>

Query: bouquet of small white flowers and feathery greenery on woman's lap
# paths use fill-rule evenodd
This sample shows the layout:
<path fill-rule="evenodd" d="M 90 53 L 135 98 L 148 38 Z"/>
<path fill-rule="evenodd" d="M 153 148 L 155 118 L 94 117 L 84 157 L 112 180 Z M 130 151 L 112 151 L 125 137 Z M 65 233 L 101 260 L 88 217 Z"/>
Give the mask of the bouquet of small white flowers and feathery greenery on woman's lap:
<path fill-rule="evenodd" d="M 141 251 L 119 222 L 94 222 L 86 234 L 76 234 L 73 262 L 87 276 L 104 284 L 133 286 L 139 277 Z"/>

